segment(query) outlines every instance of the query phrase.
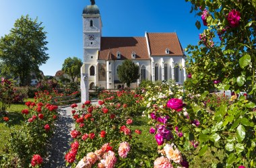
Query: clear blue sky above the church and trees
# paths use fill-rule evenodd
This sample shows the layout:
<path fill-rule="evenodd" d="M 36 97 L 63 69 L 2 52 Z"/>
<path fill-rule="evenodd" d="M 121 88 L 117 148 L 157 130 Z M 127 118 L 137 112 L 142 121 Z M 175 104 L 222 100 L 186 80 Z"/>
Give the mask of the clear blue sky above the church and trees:
<path fill-rule="evenodd" d="M 181 45 L 197 44 L 195 13 L 185 0 L 95 0 L 102 17 L 102 36 L 144 36 L 145 32 L 176 32 Z M 82 11 L 90 0 L 0 0 L 0 36 L 9 34 L 21 15 L 38 17 L 47 34 L 50 58 L 40 69 L 55 75 L 65 58 L 82 59 Z M 83 60 L 83 59 L 82 59 Z"/>

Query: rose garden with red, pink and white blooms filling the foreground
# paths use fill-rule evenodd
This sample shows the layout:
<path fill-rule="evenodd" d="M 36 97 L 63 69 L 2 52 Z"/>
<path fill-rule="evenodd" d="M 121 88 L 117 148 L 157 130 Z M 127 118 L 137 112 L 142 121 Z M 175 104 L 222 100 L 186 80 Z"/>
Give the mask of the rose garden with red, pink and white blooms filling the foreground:
<path fill-rule="evenodd" d="M 203 31 L 185 49 L 187 81 L 142 81 L 102 90 L 96 103 L 69 104 L 75 128 L 61 156 L 67 167 L 256 167 L 256 3 L 189 3 Z M 53 97 L 79 97 L 44 85 L 8 113 L 21 93 L 1 82 L 0 167 L 44 166 L 60 115 Z"/>

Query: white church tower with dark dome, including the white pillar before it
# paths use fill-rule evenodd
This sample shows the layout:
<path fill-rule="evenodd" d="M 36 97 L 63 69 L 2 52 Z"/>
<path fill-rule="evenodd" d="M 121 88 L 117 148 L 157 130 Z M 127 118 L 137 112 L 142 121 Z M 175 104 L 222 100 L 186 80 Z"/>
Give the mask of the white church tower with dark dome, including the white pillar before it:
<path fill-rule="evenodd" d="M 91 0 L 83 10 L 84 64 L 81 67 L 81 101 L 89 99 L 89 85 L 98 83 L 98 50 L 102 36 L 100 9 Z"/>

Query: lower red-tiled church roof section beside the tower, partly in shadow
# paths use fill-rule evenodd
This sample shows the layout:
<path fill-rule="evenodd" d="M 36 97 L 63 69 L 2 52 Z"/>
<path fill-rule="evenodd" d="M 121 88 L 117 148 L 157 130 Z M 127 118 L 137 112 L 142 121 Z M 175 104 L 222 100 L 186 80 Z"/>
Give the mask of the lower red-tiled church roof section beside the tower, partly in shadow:
<path fill-rule="evenodd" d="M 102 37 L 99 60 L 117 60 L 117 52 L 120 52 L 121 59 L 131 59 L 135 53 L 135 60 L 150 60 L 146 38 L 144 37 Z"/>

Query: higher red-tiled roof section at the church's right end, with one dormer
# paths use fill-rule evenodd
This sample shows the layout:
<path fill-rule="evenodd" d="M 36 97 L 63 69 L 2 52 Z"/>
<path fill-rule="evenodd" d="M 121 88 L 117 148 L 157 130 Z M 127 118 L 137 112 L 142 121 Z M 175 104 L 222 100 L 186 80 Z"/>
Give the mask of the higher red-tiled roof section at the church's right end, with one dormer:
<path fill-rule="evenodd" d="M 176 33 L 147 33 L 152 56 L 183 56 L 183 49 Z M 168 48 L 170 54 L 166 54 Z"/>

